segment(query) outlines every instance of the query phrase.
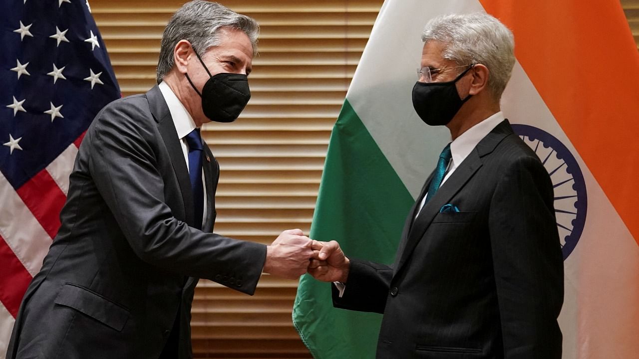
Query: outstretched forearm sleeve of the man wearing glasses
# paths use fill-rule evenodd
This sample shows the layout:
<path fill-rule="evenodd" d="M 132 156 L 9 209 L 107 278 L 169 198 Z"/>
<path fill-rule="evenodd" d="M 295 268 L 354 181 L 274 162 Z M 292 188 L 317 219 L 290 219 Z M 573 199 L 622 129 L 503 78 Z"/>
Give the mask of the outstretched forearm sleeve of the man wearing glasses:
<path fill-rule="evenodd" d="M 393 270 L 385 264 L 350 259 L 344 295 L 332 284 L 333 306 L 340 309 L 383 314 Z"/>

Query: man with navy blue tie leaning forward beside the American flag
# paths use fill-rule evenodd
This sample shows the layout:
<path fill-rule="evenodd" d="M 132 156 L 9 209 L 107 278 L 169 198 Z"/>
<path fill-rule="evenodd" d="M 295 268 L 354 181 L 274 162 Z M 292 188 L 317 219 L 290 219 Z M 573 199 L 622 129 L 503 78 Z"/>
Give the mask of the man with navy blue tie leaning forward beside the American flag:
<path fill-rule="evenodd" d="M 158 86 L 107 105 L 79 149 L 61 228 L 20 306 L 7 358 L 190 358 L 198 278 L 253 294 L 299 277 L 299 229 L 265 246 L 213 234 L 219 165 L 199 135 L 250 97 L 259 27 L 207 1 L 178 10 Z"/>

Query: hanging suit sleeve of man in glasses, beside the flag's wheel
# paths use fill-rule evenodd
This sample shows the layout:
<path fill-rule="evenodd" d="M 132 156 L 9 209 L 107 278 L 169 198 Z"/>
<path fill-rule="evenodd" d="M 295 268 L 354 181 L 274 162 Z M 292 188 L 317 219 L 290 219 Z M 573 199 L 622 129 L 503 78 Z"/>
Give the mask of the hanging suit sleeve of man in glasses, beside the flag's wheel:
<path fill-rule="evenodd" d="M 505 358 L 559 359 L 564 300 L 553 187 L 537 158 L 505 169 L 489 211 Z"/>

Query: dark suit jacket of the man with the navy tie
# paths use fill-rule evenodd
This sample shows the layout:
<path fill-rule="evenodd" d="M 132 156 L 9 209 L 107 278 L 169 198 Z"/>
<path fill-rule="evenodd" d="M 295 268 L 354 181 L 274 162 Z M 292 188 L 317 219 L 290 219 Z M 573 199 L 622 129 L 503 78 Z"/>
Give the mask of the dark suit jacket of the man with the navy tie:
<path fill-rule="evenodd" d="M 207 146 L 206 224 L 192 227 L 201 219 L 179 141 L 157 86 L 96 116 L 7 358 L 155 359 L 164 348 L 189 358 L 197 278 L 254 293 L 266 247 L 210 233 L 219 166 Z"/>

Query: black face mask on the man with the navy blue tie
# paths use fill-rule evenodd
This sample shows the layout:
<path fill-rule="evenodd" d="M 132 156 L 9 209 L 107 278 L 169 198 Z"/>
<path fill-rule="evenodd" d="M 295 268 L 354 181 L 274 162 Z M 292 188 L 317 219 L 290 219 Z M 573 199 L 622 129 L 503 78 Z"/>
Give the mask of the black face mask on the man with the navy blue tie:
<path fill-rule="evenodd" d="M 194 50 L 195 51 L 195 50 Z M 197 95 L 202 98 L 202 111 L 204 116 L 212 121 L 217 122 L 233 122 L 240 112 L 244 109 L 250 99 L 249 79 L 242 73 L 217 73 L 212 76 L 204 65 L 201 57 L 196 52 L 202 66 L 208 73 L 209 79 L 206 80 L 202 93 L 197 91 L 187 73 L 187 80 L 192 88 L 196 90 Z"/>

